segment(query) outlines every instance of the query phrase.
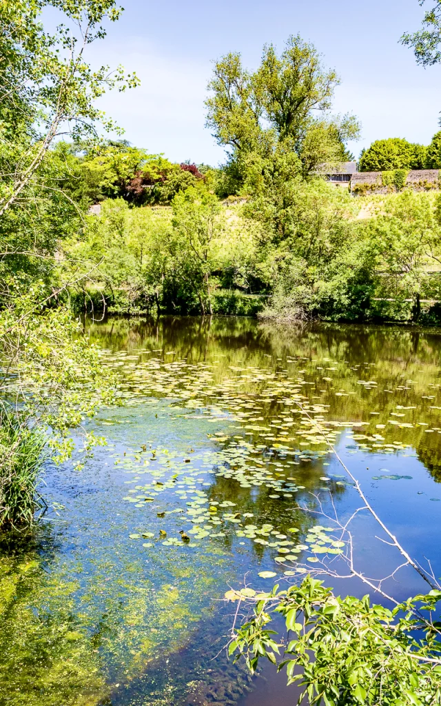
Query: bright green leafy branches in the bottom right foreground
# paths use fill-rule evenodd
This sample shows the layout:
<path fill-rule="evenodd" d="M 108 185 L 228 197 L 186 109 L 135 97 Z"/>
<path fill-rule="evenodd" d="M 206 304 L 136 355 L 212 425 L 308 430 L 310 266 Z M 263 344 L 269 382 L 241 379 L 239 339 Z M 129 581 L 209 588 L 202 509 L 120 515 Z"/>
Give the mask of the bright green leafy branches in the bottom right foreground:
<path fill-rule="evenodd" d="M 255 671 L 261 657 L 286 667 L 288 683 L 303 686 L 298 702 L 422 706 L 441 699 L 441 592 L 410 598 L 394 610 L 368 596 L 336 597 L 308 575 L 287 591 L 255 594 L 253 618 L 236 630 L 229 653 L 243 654 Z M 236 594 L 234 599 L 240 598 Z M 281 660 L 269 625 L 283 616 L 289 635 Z M 427 616 L 427 617 L 426 617 Z M 418 634 L 419 633 L 419 634 Z"/>

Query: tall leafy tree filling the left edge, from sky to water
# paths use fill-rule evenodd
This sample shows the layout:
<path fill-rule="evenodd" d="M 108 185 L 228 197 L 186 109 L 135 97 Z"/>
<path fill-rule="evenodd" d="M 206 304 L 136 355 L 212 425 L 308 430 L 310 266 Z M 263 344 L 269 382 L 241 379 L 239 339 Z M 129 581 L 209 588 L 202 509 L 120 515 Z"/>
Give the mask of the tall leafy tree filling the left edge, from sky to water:
<path fill-rule="evenodd" d="M 53 35 L 40 22 L 48 7 L 65 21 Z M 6 527 L 30 525 L 36 506 L 44 505 L 37 493 L 44 454 L 69 457 L 75 445 L 68 430 L 113 399 L 98 350 L 61 305 L 69 287 L 93 281 L 99 263 L 63 257 L 62 241 L 85 224 L 87 195 L 78 187 L 75 155 L 54 145 L 61 134 L 97 138 L 103 114 L 95 99 L 106 88 L 137 83 L 121 68 L 112 75 L 86 61 L 88 45 L 105 36 L 102 20 L 119 13 L 114 0 L 0 0 L 0 525 Z M 83 431 L 86 452 L 101 443 Z"/>

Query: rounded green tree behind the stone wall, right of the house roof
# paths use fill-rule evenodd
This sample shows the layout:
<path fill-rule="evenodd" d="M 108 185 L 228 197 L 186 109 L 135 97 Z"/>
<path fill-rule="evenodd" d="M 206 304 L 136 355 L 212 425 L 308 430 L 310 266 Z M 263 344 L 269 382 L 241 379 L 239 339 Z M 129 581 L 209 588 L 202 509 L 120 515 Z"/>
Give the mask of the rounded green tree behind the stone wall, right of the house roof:
<path fill-rule="evenodd" d="M 401 138 L 375 140 L 361 156 L 361 172 L 383 172 L 389 169 L 424 169 L 425 148 Z"/>

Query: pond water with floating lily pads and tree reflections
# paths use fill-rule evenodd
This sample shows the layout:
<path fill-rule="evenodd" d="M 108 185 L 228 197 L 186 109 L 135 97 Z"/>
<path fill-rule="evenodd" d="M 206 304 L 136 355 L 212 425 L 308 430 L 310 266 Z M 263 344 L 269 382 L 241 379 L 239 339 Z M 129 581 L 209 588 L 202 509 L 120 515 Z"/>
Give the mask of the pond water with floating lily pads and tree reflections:
<path fill-rule="evenodd" d="M 270 666 L 251 679 L 226 658 L 223 597 L 344 561 L 323 527 L 361 503 L 323 435 L 441 575 L 439 330 L 111 318 L 86 335 L 123 405 L 87 421 L 107 445 L 82 472 L 47 466 L 32 537 L 1 539 L 1 706 L 294 703 Z M 401 563 L 378 530 L 356 515 L 356 564 L 373 578 Z M 404 568 L 383 589 L 428 587 Z"/>

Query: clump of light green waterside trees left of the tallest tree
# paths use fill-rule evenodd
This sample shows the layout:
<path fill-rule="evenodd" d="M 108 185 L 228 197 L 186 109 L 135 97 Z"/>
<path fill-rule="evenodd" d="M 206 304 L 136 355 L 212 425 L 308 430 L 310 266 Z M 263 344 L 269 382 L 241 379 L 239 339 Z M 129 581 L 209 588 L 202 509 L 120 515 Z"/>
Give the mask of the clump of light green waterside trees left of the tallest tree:
<path fill-rule="evenodd" d="M 226 228 L 226 209 L 199 186 L 175 196 L 172 208 L 104 201 L 99 217 L 87 217 L 83 238 L 65 248 L 72 263 L 95 266 L 95 285 L 75 287 L 77 309 L 102 308 L 100 292 L 111 311 L 209 313 L 215 273 L 226 287 L 246 285 L 253 235 L 248 225 Z"/>

